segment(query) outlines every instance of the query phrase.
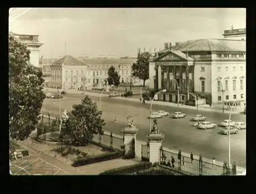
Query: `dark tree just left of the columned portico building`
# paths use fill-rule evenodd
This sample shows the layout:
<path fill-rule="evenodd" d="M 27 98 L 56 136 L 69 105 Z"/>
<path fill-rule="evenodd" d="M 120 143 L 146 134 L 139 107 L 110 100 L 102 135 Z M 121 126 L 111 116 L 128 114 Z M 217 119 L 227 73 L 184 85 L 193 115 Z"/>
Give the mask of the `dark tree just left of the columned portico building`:
<path fill-rule="evenodd" d="M 145 81 L 149 78 L 149 58 L 150 53 L 139 53 L 137 62 L 132 65 L 132 76 L 138 77 L 143 80 L 143 86 L 145 87 Z"/>

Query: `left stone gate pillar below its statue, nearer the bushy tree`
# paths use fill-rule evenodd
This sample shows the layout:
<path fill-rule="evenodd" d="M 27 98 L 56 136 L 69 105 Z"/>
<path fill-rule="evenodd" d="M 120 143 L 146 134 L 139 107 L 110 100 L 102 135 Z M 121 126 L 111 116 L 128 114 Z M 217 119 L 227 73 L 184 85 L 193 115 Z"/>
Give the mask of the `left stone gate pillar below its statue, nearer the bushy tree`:
<path fill-rule="evenodd" d="M 135 156 L 136 156 L 136 134 L 138 130 L 139 129 L 136 127 L 133 127 L 133 128 L 126 127 L 121 130 L 121 133 L 123 133 L 124 135 L 125 154 L 135 153 Z M 134 144 L 132 145 L 133 139 L 134 139 Z"/>

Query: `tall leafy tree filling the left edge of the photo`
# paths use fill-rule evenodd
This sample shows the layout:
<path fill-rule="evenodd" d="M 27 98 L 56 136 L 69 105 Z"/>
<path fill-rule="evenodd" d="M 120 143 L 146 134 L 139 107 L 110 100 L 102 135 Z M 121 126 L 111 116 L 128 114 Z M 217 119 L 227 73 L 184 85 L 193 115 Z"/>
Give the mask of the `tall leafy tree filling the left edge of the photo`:
<path fill-rule="evenodd" d="M 9 36 L 9 134 L 24 140 L 35 130 L 45 94 L 39 67 L 29 62 L 27 45 Z"/>

